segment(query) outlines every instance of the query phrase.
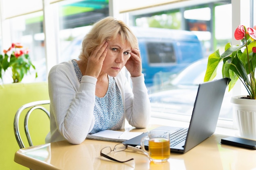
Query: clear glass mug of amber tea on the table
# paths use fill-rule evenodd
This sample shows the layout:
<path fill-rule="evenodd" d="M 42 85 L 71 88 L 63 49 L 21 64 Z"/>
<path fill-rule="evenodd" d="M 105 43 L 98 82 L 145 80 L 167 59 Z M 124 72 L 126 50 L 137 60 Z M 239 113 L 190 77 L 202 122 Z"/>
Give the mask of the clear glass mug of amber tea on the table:
<path fill-rule="evenodd" d="M 148 150 L 145 142 L 148 141 Z M 170 133 L 168 131 L 153 130 L 141 139 L 141 149 L 155 163 L 166 162 L 170 157 Z"/>

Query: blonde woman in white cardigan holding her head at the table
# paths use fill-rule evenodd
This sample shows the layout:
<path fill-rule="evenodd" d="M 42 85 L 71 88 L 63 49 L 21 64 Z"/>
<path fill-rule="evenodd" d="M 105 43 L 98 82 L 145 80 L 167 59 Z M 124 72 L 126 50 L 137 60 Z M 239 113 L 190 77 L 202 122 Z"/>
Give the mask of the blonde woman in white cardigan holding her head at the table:
<path fill-rule="evenodd" d="M 96 22 L 82 43 L 80 60 L 49 72 L 50 133 L 46 142 L 81 144 L 87 134 L 124 128 L 125 118 L 146 128 L 150 102 L 135 35 L 112 17 Z M 121 69 L 130 72 L 132 88 Z"/>

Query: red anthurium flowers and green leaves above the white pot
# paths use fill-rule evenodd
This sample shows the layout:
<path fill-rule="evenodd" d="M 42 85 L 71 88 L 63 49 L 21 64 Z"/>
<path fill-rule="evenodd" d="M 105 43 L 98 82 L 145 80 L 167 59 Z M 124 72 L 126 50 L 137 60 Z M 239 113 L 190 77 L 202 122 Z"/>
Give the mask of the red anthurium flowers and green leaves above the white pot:
<path fill-rule="evenodd" d="M 238 78 L 243 83 L 249 95 L 246 98 L 256 99 L 256 26 L 246 28 L 239 25 L 234 37 L 241 41 L 240 45 L 231 46 L 227 43 L 225 52 L 219 50 L 209 55 L 204 81 L 211 81 L 216 76 L 219 63 L 223 61 L 222 76 L 231 78 L 229 91 L 234 87 Z"/>

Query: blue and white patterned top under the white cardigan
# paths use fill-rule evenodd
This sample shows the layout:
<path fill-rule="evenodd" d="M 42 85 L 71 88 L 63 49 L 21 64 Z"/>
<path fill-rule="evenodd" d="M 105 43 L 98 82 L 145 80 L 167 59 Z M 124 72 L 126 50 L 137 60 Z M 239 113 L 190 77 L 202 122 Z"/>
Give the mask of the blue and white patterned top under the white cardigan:
<path fill-rule="evenodd" d="M 76 76 L 81 83 L 83 74 L 79 69 L 76 60 L 72 60 Z M 93 115 L 95 124 L 89 134 L 97 133 L 102 130 L 118 130 L 124 121 L 124 105 L 121 93 L 117 87 L 115 79 L 108 75 L 108 91 L 102 98 L 95 96 Z"/>

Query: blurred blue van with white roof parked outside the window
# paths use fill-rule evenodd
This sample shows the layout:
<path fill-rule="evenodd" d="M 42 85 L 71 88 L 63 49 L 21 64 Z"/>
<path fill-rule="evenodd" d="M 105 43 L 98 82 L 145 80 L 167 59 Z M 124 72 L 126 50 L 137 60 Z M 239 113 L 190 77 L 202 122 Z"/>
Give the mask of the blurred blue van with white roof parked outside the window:
<path fill-rule="evenodd" d="M 190 31 L 130 27 L 138 38 L 142 73 L 147 87 L 167 81 L 170 75 L 203 58 L 198 37 Z M 86 28 L 89 30 L 90 26 Z M 77 59 L 84 34 L 76 37 L 63 51 L 59 62 Z"/>

